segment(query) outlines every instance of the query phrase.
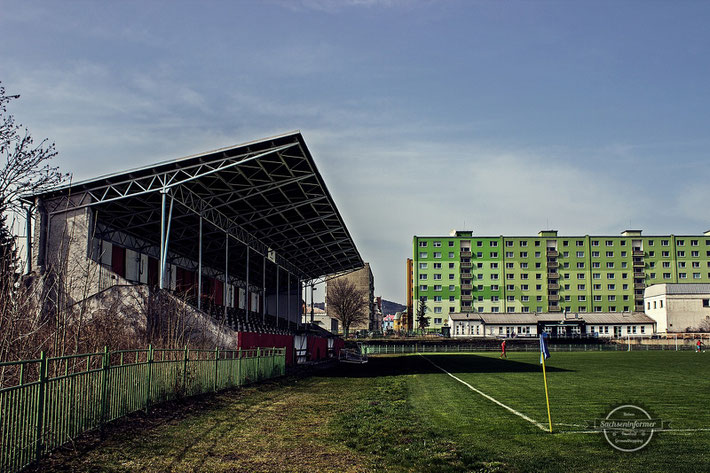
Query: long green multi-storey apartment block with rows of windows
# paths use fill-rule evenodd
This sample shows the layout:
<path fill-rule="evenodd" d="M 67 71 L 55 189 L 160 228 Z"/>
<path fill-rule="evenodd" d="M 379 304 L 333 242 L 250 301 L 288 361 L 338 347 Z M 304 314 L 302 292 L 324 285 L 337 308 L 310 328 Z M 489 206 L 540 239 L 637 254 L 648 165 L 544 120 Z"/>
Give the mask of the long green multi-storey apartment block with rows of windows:
<path fill-rule="evenodd" d="M 710 231 L 415 236 L 411 278 L 434 329 L 458 312 L 642 312 L 646 286 L 710 282 Z"/>

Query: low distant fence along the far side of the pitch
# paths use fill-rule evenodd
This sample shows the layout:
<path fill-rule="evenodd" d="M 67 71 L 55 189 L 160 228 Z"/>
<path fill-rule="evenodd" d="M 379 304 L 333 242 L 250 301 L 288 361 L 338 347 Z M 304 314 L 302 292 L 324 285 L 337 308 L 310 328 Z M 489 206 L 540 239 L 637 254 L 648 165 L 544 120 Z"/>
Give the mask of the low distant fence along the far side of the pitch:
<path fill-rule="evenodd" d="M 635 344 L 635 343 L 570 343 L 548 345 L 550 351 L 689 351 L 695 350 L 694 345 L 688 344 Z M 499 352 L 499 346 L 482 346 L 476 344 L 363 344 L 360 350 L 365 355 L 386 355 L 397 353 L 458 353 L 458 352 Z M 513 345 L 506 347 L 506 351 L 538 352 L 540 347 L 536 344 Z"/>

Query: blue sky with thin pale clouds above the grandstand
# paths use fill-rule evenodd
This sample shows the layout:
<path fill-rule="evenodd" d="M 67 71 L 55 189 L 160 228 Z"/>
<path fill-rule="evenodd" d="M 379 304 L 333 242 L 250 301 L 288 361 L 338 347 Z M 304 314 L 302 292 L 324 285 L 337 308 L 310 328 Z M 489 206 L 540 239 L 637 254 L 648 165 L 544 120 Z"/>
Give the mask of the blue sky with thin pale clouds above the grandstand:
<path fill-rule="evenodd" d="M 403 303 L 414 235 L 708 230 L 709 20 L 691 1 L 0 0 L 0 81 L 74 180 L 300 130 L 376 294 Z"/>

